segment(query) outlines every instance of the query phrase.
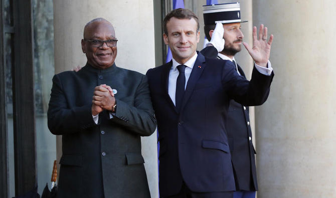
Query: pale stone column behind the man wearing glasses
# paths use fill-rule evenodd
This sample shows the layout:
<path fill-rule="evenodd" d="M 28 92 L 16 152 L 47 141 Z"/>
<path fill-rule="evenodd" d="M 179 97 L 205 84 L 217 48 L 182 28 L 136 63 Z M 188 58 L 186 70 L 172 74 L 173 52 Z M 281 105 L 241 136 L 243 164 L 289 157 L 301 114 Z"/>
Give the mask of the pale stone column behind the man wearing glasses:
<path fill-rule="evenodd" d="M 142 74 L 155 66 L 153 1 L 54 1 L 55 73 L 84 66 L 81 50 L 87 22 L 102 17 L 110 21 L 118 38 L 115 63 Z M 61 156 L 58 138 L 58 159 Z M 141 139 L 142 155 L 151 197 L 158 197 L 156 132 Z"/>

